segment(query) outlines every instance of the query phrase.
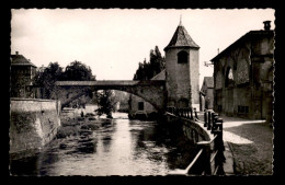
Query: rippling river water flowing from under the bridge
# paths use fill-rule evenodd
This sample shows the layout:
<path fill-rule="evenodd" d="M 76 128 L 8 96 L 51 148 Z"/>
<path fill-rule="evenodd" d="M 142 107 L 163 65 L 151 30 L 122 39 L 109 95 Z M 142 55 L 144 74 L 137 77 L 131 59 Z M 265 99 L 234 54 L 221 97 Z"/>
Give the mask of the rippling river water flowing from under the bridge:
<path fill-rule="evenodd" d="M 191 162 L 189 146 L 178 147 L 163 123 L 113 116 L 89 135 L 54 139 L 36 157 L 12 161 L 11 175 L 167 175 Z"/>

